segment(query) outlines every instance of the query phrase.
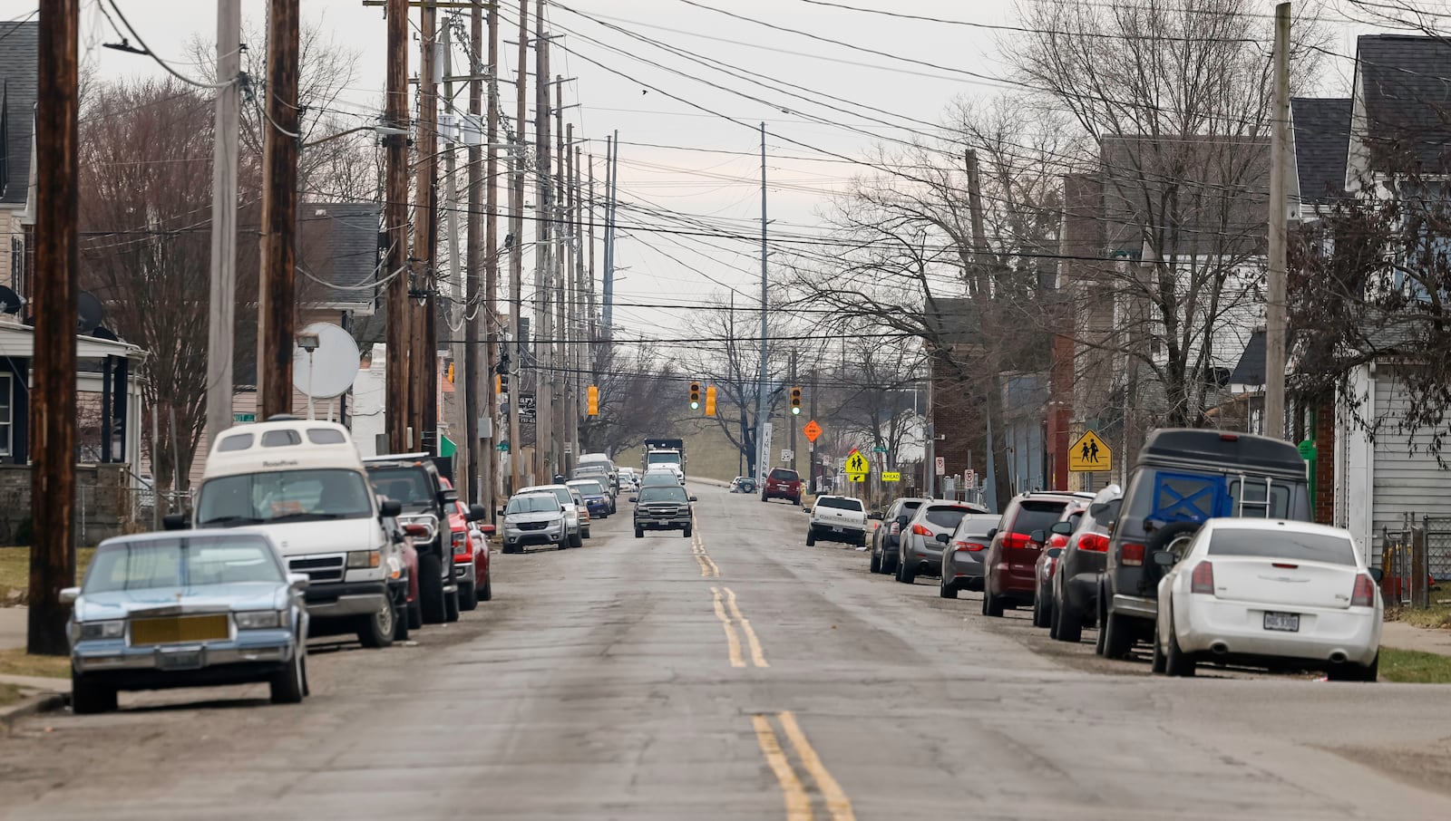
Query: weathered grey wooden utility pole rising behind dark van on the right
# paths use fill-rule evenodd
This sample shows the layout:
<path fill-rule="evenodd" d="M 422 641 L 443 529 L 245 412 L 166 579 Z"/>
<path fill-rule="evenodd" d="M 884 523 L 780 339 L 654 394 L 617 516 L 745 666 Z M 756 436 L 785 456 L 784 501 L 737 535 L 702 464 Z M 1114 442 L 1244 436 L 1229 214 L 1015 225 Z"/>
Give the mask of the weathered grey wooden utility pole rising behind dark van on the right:
<path fill-rule="evenodd" d="M 1270 264 L 1265 271 L 1264 434 L 1284 438 L 1286 241 L 1290 165 L 1290 4 L 1274 7 L 1274 132 L 1270 139 Z"/>

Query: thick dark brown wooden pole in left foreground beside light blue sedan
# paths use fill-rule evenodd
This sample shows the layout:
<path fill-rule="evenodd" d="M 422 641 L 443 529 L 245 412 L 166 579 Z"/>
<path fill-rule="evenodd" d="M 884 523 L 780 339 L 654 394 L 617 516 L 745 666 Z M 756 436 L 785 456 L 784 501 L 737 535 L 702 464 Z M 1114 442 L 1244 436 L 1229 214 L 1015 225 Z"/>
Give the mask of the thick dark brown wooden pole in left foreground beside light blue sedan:
<path fill-rule="evenodd" d="M 75 583 L 78 0 L 42 0 L 35 107 L 35 358 L 30 387 L 30 611 L 26 648 L 65 656 Z M 155 409 L 152 409 L 155 412 Z"/>

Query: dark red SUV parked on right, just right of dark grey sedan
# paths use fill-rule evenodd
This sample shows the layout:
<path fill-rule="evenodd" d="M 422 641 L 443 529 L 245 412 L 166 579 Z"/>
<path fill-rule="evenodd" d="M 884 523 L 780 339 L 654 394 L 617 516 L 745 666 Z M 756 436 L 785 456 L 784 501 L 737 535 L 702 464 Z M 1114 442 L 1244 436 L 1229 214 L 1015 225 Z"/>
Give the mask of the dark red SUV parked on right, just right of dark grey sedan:
<path fill-rule="evenodd" d="M 1043 550 L 1042 541 L 1033 541 L 1033 532 L 1046 532 L 1069 505 L 1091 500 L 1093 493 L 1030 490 L 1007 503 L 982 557 L 987 572 L 982 576 L 982 615 L 1001 616 L 1004 608 L 1033 603 L 1037 592 L 1035 569 Z"/>

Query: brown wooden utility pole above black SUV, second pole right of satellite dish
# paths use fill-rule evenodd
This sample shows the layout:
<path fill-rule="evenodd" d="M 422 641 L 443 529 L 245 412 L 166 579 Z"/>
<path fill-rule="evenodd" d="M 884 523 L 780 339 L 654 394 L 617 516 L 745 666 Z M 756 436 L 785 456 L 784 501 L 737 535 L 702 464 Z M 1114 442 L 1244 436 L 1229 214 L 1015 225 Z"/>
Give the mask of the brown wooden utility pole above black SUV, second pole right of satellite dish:
<path fill-rule="evenodd" d="M 421 32 L 418 55 L 418 177 L 414 181 L 414 257 L 409 260 L 418 274 L 414 279 L 414 338 L 411 399 L 414 437 L 418 450 L 437 453 L 438 429 L 438 334 L 434 302 L 434 249 L 438 247 L 438 75 L 435 49 L 438 10 L 431 3 L 419 9 Z"/>

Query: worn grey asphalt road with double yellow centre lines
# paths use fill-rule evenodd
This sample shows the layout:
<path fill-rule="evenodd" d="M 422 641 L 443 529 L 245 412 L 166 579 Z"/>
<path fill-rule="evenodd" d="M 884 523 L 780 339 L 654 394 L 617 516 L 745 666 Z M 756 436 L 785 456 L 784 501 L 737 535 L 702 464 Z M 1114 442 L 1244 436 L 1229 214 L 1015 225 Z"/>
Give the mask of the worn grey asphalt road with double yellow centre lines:
<path fill-rule="evenodd" d="M 122 696 L 0 737 L 4 818 L 1445 818 L 1451 690 L 1149 677 L 807 548 L 695 487 L 696 538 L 496 558 L 409 647 L 313 647 L 312 698 Z M 624 512 L 624 511 L 622 511 Z"/>

